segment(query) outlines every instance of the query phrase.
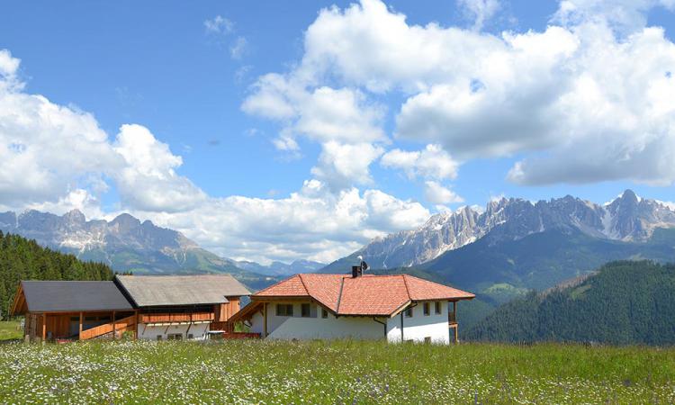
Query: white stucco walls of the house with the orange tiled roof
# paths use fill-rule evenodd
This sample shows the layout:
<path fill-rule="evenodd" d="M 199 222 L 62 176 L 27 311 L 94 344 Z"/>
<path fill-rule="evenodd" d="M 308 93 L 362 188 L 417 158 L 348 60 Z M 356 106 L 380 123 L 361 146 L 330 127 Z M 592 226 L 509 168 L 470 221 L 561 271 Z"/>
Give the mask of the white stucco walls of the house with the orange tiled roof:
<path fill-rule="evenodd" d="M 301 303 L 293 302 L 293 317 L 277 317 L 276 302 L 268 303 L 267 338 L 279 339 L 312 339 L 312 338 L 384 338 L 384 326 L 366 317 L 334 317 L 321 318 L 321 308 L 317 307 L 316 318 L 302 318 Z M 292 303 L 292 302 L 279 302 Z M 424 342 L 431 338 L 433 343 L 450 343 L 447 324 L 447 302 L 441 303 L 441 313 L 434 311 L 434 303 L 430 304 L 430 314 L 424 315 L 422 302 L 413 308 L 412 318 L 403 319 L 403 339 Z M 386 337 L 390 342 L 401 342 L 401 316 L 378 319 L 386 323 Z M 251 318 L 251 331 L 263 333 L 263 316 L 257 312 Z"/>

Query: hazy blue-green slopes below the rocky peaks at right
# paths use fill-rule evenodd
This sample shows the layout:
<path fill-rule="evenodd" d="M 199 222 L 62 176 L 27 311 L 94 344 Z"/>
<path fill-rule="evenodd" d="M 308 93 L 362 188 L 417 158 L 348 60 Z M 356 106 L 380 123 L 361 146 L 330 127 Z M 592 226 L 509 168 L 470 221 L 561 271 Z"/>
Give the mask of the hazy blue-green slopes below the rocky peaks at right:
<path fill-rule="evenodd" d="M 578 230 L 547 230 L 518 240 L 490 236 L 419 266 L 492 302 L 509 302 L 588 274 L 613 260 L 675 261 L 675 229 L 656 229 L 646 242 L 593 238 Z"/>

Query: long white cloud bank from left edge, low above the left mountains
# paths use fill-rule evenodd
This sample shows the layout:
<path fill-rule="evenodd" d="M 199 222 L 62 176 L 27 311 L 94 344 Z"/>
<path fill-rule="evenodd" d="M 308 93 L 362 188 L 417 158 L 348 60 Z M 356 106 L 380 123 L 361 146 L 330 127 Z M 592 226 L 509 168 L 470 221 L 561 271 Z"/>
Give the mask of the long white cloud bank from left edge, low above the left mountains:
<path fill-rule="evenodd" d="M 325 142 L 317 178 L 288 197 L 207 195 L 177 172 L 183 158 L 148 128 L 121 125 L 109 139 L 90 113 L 24 92 L 16 77 L 19 66 L 19 59 L 0 51 L 3 210 L 60 214 L 77 208 L 90 218 L 129 211 L 183 231 L 223 256 L 260 261 L 328 262 L 370 238 L 428 219 L 429 211 L 419 202 L 348 185 L 371 182 L 368 166 L 383 150 L 369 142 Z M 306 125 L 317 126 L 308 129 L 312 133 L 331 130 L 320 123 Z M 336 182 L 343 183 L 336 188 Z M 99 195 L 111 189 L 119 194 L 119 206 L 102 211 Z"/>

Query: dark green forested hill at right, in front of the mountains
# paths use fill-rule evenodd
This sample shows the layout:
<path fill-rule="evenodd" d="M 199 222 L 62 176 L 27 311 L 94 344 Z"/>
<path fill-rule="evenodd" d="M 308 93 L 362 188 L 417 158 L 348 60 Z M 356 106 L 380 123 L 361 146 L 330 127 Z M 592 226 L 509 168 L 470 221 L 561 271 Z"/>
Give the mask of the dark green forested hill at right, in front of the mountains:
<path fill-rule="evenodd" d="M 467 340 L 675 344 L 675 265 L 609 263 L 581 284 L 502 305 Z"/>

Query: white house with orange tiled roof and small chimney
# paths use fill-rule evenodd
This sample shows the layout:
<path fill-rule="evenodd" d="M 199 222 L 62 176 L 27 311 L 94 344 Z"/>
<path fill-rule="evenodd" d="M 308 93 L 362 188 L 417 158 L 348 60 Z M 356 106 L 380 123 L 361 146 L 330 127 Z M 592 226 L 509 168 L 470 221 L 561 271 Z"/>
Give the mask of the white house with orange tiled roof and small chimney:
<path fill-rule="evenodd" d="M 263 338 L 448 344 L 451 332 L 458 341 L 457 302 L 473 297 L 411 275 L 362 275 L 356 266 L 352 275 L 293 275 L 251 295 L 232 320 Z"/>

